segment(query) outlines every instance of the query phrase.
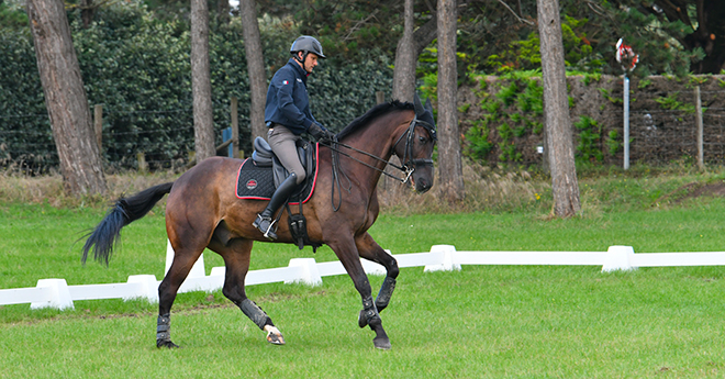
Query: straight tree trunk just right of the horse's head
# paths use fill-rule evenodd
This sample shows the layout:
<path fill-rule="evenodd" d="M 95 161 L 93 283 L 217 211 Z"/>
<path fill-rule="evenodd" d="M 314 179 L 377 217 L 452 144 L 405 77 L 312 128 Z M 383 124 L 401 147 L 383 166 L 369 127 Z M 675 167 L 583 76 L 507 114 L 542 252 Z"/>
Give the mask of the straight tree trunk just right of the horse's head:
<path fill-rule="evenodd" d="M 464 197 L 464 175 L 458 130 L 456 64 L 456 0 L 438 0 L 438 171 L 449 201 Z"/>

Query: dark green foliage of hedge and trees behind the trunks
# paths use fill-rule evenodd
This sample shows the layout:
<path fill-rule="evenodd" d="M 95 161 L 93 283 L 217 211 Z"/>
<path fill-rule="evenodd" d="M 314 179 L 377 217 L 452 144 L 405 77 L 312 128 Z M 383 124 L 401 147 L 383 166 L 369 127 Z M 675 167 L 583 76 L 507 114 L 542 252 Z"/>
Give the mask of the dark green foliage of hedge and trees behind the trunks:
<path fill-rule="evenodd" d="M 236 97 L 243 138 L 241 148 L 248 151 L 248 79 L 242 25 L 235 16 L 237 10 L 232 9 L 231 16 L 226 16 L 230 13 L 220 7 L 224 1 L 210 1 L 212 100 L 217 144 L 222 142 L 219 130 L 230 125 L 230 98 Z M 90 3 L 92 22 L 88 24 L 83 23 L 82 13 L 87 9 L 82 9 L 81 1 L 71 0 L 66 5 L 89 105 L 103 104 L 103 154 L 108 166 L 134 168 L 138 152 L 146 154 L 152 168 L 183 164 L 187 152 L 193 146 L 188 3 L 177 0 Z M 684 76 L 691 70 L 702 70 L 704 66 L 700 63 L 704 62 L 709 47 L 693 41 L 700 41 L 705 26 L 710 27 L 716 35 L 716 44 L 705 60 L 717 56 L 721 40 L 725 41 L 717 29 L 720 13 L 711 12 L 707 20 L 699 20 L 695 1 L 677 1 L 680 7 L 677 9 L 667 4 L 669 2 L 662 1 L 561 0 L 566 63 L 570 73 L 621 75 L 622 69 L 614 60 L 614 45 L 620 37 L 640 55 L 635 76 Z M 299 34 L 314 35 L 323 43 L 330 58 L 315 70 L 309 89 L 316 119 L 332 130 L 339 130 L 371 108 L 376 91 L 390 92 L 392 62 L 402 33 L 401 2 L 259 0 L 257 8 L 268 78 L 285 65 L 290 42 Z M 540 52 L 535 0 L 465 0 L 460 1 L 459 11 L 457 41 L 461 85 L 476 86 L 471 78 L 480 75 L 521 78 L 527 75 L 526 70 L 538 69 Z M 434 14 L 433 2 L 415 1 L 417 26 L 434 21 Z M 56 166 L 57 157 L 27 18 L 18 0 L 0 2 L 0 166 L 45 172 Z M 420 90 L 433 100 L 436 98 L 436 54 L 434 42 L 421 55 L 417 67 Z M 537 96 L 532 92 L 535 88 L 526 82 L 516 86 L 515 90 L 509 88 L 515 99 Z M 505 91 L 493 97 L 499 89 L 492 90 L 479 91 L 488 99 L 483 107 L 495 107 L 490 100 L 503 101 L 501 96 Z M 612 93 L 604 97 L 616 101 Z M 488 116 L 477 120 L 471 129 L 476 133 L 465 127 L 470 157 L 490 160 L 493 156 L 514 163 L 529 160 L 528 153 L 522 153 L 512 144 L 538 136 L 540 125 L 535 121 L 538 115 L 528 113 L 531 104 L 523 102 L 517 107 L 520 100 L 515 99 L 516 107 L 494 110 L 511 119 L 505 123 L 484 131 L 482 127 L 491 121 Z M 477 102 L 479 100 L 469 107 L 477 108 Z M 621 107 L 621 103 L 615 105 Z M 514 109 L 522 114 L 504 114 Z M 601 118 L 592 120 L 603 126 Z M 589 129 L 581 131 L 589 133 Z M 610 147 L 609 155 L 616 154 L 621 133 L 611 129 L 603 133 L 592 132 L 589 145 L 605 143 Z M 582 153 L 584 156 L 600 159 L 596 152 L 582 148 L 580 152 L 588 152 Z M 605 163 L 606 156 L 604 152 Z"/>

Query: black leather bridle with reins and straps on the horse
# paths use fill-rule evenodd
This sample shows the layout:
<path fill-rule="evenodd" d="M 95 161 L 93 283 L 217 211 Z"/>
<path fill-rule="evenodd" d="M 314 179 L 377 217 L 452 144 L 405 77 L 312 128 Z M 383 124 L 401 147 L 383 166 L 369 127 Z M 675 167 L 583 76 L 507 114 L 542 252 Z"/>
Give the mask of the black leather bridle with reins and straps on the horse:
<path fill-rule="evenodd" d="M 335 205 L 335 187 L 339 188 L 339 178 L 338 178 L 338 171 L 341 171 L 339 170 L 339 154 L 342 154 L 342 155 L 359 163 L 360 165 L 372 168 L 373 170 L 377 170 L 380 174 L 386 175 L 390 178 L 393 178 L 393 179 L 395 179 L 395 180 L 398 180 L 402 183 L 406 183 L 410 180 L 411 176 L 413 176 L 413 172 L 415 171 L 415 167 L 417 167 L 417 166 L 433 166 L 433 159 L 413 159 L 413 137 L 415 136 L 415 126 L 419 126 L 419 125 L 423 126 L 428 132 L 428 134 L 430 134 L 431 138 L 433 140 L 434 144 L 438 141 L 437 134 L 436 134 L 436 131 L 435 131 L 435 126 L 433 124 L 428 123 L 428 122 L 420 120 L 417 118 L 417 114 L 416 114 L 413 118 L 413 120 L 411 120 L 411 123 L 408 126 L 408 131 L 405 133 L 402 133 L 400 135 L 400 137 L 398 137 L 398 141 L 395 141 L 395 143 L 391 147 L 392 154 L 395 155 L 398 158 L 400 158 L 400 161 L 403 163 L 402 166 L 398 166 L 398 165 L 395 165 L 391 161 L 382 159 L 379 156 L 372 155 L 368 152 L 360 151 L 358 148 L 355 148 L 355 147 L 353 147 L 350 145 L 347 145 L 347 144 L 343 144 L 343 143 L 337 142 L 337 141 L 332 141 L 330 143 L 321 143 L 322 145 L 327 146 L 331 151 L 333 151 L 333 155 L 332 155 L 332 171 L 333 171 L 333 186 L 332 186 L 333 196 L 332 196 L 332 201 L 333 201 L 333 210 L 335 212 L 339 209 L 339 205 L 342 204 L 342 201 L 343 201 L 342 192 L 339 192 L 339 189 L 338 189 L 339 202 L 338 202 L 337 205 Z M 405 136 L 405 149 L 403 151 L 403 156 L 401 157 L 395 152 L 395 147 L 403 140 L 403 136 Z M 393 168 L 401 170 L 404 174 L 404 178 L 399 178 L 399 177 L 397 177 L 392 174 L 387 172 L 384 170 L 384 168 L 381 169 L 381 168 L 378 168 L 378 167 L 376 167 L 373 165 L 370 165 L 366 161 L 362 161 L 362 160 L 352 156 L 347 152 L 343 152 L 342 149 L 339 149 L 339 147 L 344 147 L 344 148 L 350 149 L 353 152 L 366 155 L 366 156 L 368 156 L 372 159 L 376 159 L 378 161 L 383 161 L 386 165 L 390 165 Z M 343 175 L 347 179 L 348 188 L 346 188 L 346 190 L 349 192 L 350 189 L 352 189 L 352 182 L 350 182 L 349 178 L 347 177 L 347 175 L 344 171 L 343 171 Z"/>

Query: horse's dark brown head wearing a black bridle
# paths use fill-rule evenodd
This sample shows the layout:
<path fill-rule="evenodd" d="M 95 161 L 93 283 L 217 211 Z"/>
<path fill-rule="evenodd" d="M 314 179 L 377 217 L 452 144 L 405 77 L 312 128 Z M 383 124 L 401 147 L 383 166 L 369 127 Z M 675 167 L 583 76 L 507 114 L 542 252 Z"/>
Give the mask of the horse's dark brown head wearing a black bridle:
<path fill-rule="evenodd" d="M 408 132 L 401 134 L 393 146 L 395 155 L 403 163 L 403 167 L 413 180 L 415 190 L 423 193 L 433 187 L 433 147 L 437 141 L 435 120 L 431 100 L 426 100 L 425 107 L 415 94 L 413 101 L 415 116 L 408 127 Z M 401 143 L 405 138 L 405 144 Z"/>

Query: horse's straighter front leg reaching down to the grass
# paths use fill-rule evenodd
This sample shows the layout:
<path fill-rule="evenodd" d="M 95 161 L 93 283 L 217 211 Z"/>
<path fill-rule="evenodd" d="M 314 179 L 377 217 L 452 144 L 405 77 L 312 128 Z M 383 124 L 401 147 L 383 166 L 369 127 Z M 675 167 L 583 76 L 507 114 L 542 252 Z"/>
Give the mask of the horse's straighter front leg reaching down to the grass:
<path fill-rule="evenodd" d="M 365 327 L 370 325 L 370 328 L 376 333 L 376 337 L 372 339 L 375 347 L 380 349 L 390 349 L 390 338 L 382 327 L 382 319 L 380 319 L 380 313 L 376 306 L 375 301 L 372 300 L 372 290 L 370 289 L 370 281 L 368 281 L 368 276 L 362 269 L 360 264 L 359 255 L 355 244 L 350 241 L 349 244 L 328 244 L 330 247 L 335 252 L 337 258 L 345 267 L 345 270 L 353 279 L 355 289 L 360 293 L 362 298 L 362 311 L 359 314 L 358 325 Z"/>

